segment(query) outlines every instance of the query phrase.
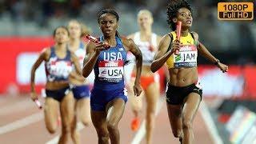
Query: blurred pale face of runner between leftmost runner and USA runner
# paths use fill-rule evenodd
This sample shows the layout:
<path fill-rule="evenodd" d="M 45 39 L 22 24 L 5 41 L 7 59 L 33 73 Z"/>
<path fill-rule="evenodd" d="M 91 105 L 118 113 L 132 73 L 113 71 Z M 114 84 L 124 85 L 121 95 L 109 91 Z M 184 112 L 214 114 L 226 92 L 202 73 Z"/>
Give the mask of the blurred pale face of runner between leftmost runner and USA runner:
<path fill-rule="evenodd" d="M 81 36 L 81 26 L 78 22 L 70 22 L 68 26 L 68 30 L 70 31 L 70 38 L 76 39 Z"/>

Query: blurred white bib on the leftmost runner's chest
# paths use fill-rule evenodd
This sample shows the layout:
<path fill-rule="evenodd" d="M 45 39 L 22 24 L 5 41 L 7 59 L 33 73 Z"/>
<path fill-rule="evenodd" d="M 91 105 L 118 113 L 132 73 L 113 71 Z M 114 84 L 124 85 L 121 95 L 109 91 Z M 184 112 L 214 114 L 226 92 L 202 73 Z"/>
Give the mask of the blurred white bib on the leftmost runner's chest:
<path fill-rule="evenodd" d="M 73 68 L 70 61 L 59 60 L 57 57 L 53 57 L 46 63 L 46 69 L 48 81 L 53 82 L 67 80 Z"/>

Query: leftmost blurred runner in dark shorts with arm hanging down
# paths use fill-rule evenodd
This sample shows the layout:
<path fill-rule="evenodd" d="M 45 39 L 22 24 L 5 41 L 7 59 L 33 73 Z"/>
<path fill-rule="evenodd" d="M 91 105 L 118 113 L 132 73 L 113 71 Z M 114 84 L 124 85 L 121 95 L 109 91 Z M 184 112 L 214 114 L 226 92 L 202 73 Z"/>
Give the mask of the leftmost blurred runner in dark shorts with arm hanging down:
<path fill-rule="evenodd" d="M 46 129 L 54 134 L 57 128 L 58 110 L 62 118 L 62 135 L 58 143 L 68 142 L 71 122 L 74 118 L 74 98 L 70 93 L 69 75 L 73 66 L 81 74 L 78 58 L 67 49 L 69 32 L 65 26 L 54 30 L 55 45 L 42 50 L 31 70 L 31 98 L 38 98 L 34 90 L 35 71 L 42 62 L 46 66 L 46 101 L 44 106 Z"/>

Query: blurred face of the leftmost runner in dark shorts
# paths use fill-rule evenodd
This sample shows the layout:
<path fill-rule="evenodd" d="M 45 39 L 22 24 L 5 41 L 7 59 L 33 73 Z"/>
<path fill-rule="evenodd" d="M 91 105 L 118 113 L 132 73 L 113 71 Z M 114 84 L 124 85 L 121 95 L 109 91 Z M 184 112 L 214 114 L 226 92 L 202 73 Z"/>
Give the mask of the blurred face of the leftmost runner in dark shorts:
<path fill-rule="evenodd" d="M 54 40 L 57 43 L 65 43 L 69 41 L 69 34 L 66 29 L 60 27 L 56 30 Z"/>

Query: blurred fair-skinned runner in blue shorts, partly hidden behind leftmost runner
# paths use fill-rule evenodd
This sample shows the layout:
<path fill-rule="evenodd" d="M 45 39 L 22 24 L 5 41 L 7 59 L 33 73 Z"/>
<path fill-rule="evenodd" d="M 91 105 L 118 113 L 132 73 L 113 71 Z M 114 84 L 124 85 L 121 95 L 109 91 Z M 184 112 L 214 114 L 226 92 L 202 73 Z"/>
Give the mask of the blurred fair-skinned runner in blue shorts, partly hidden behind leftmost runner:
<path fill-rule="evenodd" d="M 69 50 L 73 51 L 78 57 L 81 69 L 83 59 L 86 55 L 85 44 L 82 42 L 81 37 L 83 34 L 88 33 L 88 30 L 82 30 L 82 24 L 76 20 L 72 20 L 67 26 L 70 32 L 70 42 L 68 44 Z M 82 31 L 85 31 L 82 33 Z M 80 142 L 80 134 L 77 130 L 77 123 L 81 121 L 85 126 L 89 126 L 90 118 L 90 86 L 86 78 L 82 74 L 76 73 L 73 70 L 70 73 L 70 86 L 74 95 L 74 121 L 71 130 L 71 136 L 74 143 Z"/>

